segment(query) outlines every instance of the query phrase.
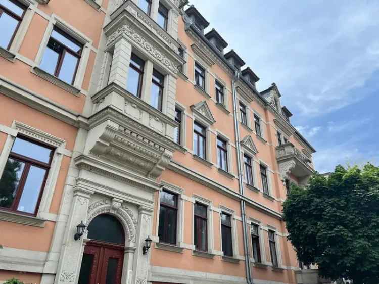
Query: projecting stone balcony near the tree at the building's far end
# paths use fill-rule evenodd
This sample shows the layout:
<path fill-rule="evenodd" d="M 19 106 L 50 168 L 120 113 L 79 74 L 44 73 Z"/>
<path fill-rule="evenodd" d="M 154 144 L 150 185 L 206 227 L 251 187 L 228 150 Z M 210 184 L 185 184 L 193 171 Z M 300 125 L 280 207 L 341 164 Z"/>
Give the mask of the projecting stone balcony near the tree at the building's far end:
<path fill-rule="evenodd" d="M 282 180 L 288 178 L 291 173 L 299 180 L 299 185 L 305 185 L 309 177 L 314 173 L 311 160 L 302 154 L 292 143 L 286 143 L 276 147 L 276 161 L 279 166 Z"/>

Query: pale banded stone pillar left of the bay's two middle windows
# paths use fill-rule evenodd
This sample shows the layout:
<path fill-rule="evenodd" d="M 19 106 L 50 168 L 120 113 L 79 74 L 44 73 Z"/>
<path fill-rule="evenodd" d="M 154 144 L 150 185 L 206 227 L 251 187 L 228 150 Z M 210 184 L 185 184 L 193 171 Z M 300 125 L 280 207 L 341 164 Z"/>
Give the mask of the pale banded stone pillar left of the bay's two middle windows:
<path fill-rule="evenodd" d="M 121 87 L 126 87 L 129 64 L 131 56 L 131 44 L 123 37 L 115 43 L 113 51 L 111 71 L 109 73 L 109 83 L 115 83 Z"/>

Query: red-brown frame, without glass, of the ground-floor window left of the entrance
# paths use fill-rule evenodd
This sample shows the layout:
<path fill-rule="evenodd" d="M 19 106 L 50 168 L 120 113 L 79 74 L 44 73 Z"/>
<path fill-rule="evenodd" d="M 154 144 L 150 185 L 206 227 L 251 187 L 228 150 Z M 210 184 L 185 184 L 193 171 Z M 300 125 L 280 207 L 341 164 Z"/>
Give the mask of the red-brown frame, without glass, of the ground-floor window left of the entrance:
<path fill-rule="evenodd" d="M 45 185 L 46 185 L 46 179 L 48 178 L 49 171 L 50 171 L 50 168 L 51 168 L 51 163 L 52 163 L 52 159 L 53 159 L 53 156 L 54 156 L 55 148 L 52 147 L 52 146 L 50 146 L 50 145 L 41 143 L 40 141 L 36 141 L 36 140 L 30 139 L 29 137 L 26 137 L 26 136 L 23 136 L 23 135 L 17 135 L 16 138 L 28 141 L 28 142 L 30 142 L 32 144 L 44 147 L 46 149 L 50 149 L 50 150 L 52 150 L 52 152 L 51 152 L 51 156 L 50 156 L 50 159 L 49 159 L 49 163 L 44 163 L 44 162 L 41 162 L 41 161 L 37 161 L 37 160 L 35 160 L 33 158 L 29 158 L 29 157 L 26 157 L 26 156 L 21 155 L 21 154 L 17 154 L 17 153 L 13 153 L 13 152 L 9 153 L 7 161 L 8 161 L 9 158 L 11 158 L 13 160 L 17 160 L 17 161 L 20 161 L 20 162 L 24 163 L 25 166 L 24 166 L 24 169 L 22 170 L 22 173 L 21 173 L 21 176 L 20 176 L 20 181 L 19 181 L 19 183 L 17 185 L 17 188 L 16 188 L 16 196 L 15 196 L 15 199 L 14 199 L 14 201 L 12 203 L 12 206 L 10 208 L 0 207 L 0 209 L 1 210 L 5 210 L 5 211 L 10 211 L 10 212 L 17 212 L 17 213 L 23 214 L 23 215 L 36 216 L 37 212 L 38 212 L 38 209 L 39 209 L 39 205 L 40 205 L 41 199 L 42 199 L 43 191 L 44 191 L 44 188 L 45 188 Z M 42 181 L 42 184 L 41 184 L 41 188 L 39 189 L 39 195 L 38 195 L 38 199 L 37 199 L 37 202 L 35 204 L 35 208 L 34 208 L 34 212 L 33 213 L 17 210 L 18 205 L 19 205 L 20 200 L 21 200 L 21 197 L 22 197 L 22 193 L 24 191 L 25 182 L 27 180 L 27 177 L 28 177 L 29 170 L 30 170 L 31 166 L 42 168 L 42 169 L 46 170 L 45 176 L 43 177 L 43 181 Z M 0 176 L 0 178 L 1 178 L 1 176 Z"/>

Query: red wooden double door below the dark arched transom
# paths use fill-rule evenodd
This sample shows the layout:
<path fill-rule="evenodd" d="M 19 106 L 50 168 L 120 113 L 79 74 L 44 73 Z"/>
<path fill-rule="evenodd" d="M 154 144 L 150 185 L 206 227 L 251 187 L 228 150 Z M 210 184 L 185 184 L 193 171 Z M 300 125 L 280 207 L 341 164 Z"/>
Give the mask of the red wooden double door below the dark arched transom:
<path fill-rule="evenodd" d="M 120 284 L 122 246 L 91 241 L 84 247 L 78 284 Z"/>

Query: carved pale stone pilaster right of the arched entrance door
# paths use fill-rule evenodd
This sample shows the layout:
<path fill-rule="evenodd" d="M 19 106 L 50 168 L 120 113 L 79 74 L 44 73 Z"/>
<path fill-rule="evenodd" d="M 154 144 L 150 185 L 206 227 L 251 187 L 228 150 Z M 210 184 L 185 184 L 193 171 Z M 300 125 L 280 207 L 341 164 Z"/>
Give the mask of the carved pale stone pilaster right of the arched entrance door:
<path fill-rule="evenodd" d="M 133 265 L 133 283 L 142 284 L 147 283 L 151 253 L 150 249 L 146 254 L 143 254 L 142 248 L 145 246 L 145 239 L 151 235 L 151 215 L 153 213 L 153 209 L 145 206 L 139 206 L 138 211 L 138 227 L 135 238 L 136 250 Z"/>

